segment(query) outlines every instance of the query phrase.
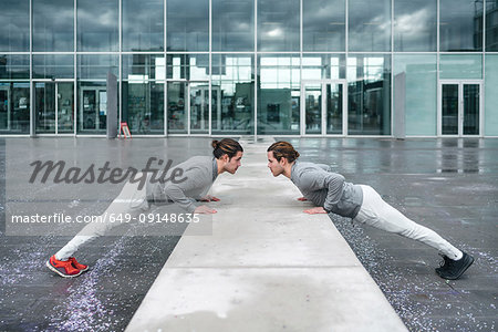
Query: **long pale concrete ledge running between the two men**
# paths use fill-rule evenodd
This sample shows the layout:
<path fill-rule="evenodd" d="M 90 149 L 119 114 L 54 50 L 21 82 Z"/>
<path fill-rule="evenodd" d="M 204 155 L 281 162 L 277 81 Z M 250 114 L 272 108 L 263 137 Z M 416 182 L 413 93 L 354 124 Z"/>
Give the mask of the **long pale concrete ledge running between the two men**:
<path fill-rule="evenodd" d="M 329 217 L 273 178 L 268 145 L 217 179 L 212 235 L 187 228 L 126 331 L 406 331 Z"/>

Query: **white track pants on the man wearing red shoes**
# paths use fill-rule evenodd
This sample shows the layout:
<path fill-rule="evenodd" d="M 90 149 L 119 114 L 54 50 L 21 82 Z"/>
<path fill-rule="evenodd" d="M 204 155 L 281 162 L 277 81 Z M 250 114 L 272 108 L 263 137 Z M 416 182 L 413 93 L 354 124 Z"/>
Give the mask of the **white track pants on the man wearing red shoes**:
<path fill-rule="evenodd" d="M 138 190 L 138 185 L 139 181 L 135 184 L 126 183 L 116 199 L 101 215 L 103 222 L 91 222 L 86 225 L 68 245 L 55 253 L 55 258 L 66 260 L 84 243 L 103 236 L 111 228 L 121 225 L 121 222 L 110 222 L 108 219 L 111 216 L 116 218 L 120 214 L 123 214 L 123 216 L 129 214 L 132 218 L 135 218 L 139 214 L 147 211 L 149 205 L 147 203 L 145 186 Z"/>

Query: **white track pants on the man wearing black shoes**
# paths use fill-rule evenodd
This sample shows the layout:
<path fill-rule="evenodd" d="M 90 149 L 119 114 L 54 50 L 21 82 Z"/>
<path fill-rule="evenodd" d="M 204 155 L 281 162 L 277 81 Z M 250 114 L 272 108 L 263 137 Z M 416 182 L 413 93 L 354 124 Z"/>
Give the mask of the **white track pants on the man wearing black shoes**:
<path fill-rule="evenodd" d="M 363 190 L 363 204 L 353 221 L 421 241 L 437 249 L 439 253 L 446 255 L 450 259 L 461 257 L 460 250 L 452 246 L 434 230 L 406 218 L 402 212 L 385 203 L 372 187 L 364 185 L 361 185 L 361 187 Z"/>

